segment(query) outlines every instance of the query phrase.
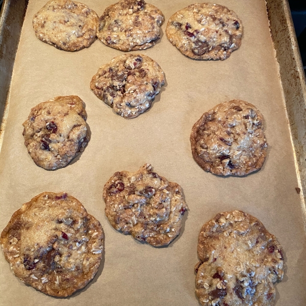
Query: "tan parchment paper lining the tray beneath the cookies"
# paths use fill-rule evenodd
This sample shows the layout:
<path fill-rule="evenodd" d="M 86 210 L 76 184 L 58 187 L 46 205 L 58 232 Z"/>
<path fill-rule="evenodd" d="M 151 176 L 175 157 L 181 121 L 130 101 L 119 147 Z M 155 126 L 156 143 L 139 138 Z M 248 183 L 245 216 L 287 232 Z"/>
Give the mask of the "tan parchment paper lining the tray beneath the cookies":
<path fill-rule="evenodd" d="M 113 3 L 84 1 L 101 15 Z M 96 41 L 67 53 L 39 41 L 33 15 L 45 4 L 30 1 L 21 33 L 0 155 L 2 230 L 22 203 L 43 191 L 78 198 L 105 231 L 105 260 L 94 280 L 68 298 L 54 298 L 22 284 L 0 254 L 2 305 L 198 305 L 194 294 L 197 236 L 220 211 L 244 210 L 259 218 L 284 248 L 285 276 L 276 286 L 276 305 L 304 305 L 305 235 L 293 149 L 278 79 L 264 0 L 220 0 L 242 19 L 241 47 L 225 61 L 194 61 L 171 45 L 169 17 L 192 1 L 151 0 L 165 15 L 162 38 L 141 53 L 156 60 L 166 85 L 151 109 L 125 120 L 100 101 L 89 83 L 99 66 L 123 54 Z M 30 109 L 57 95 L 79 95 L 86 103 L 91 140 L 72 164 L 56 171 L 37 167 L 23 145 L 22 122 Z M 263 168 L 246 177 L 219 177 L 192 159 L 189 136 L 201 114 L 230 99 L 259 108 L 269 144 Z M 115 231 L 104 214 L 103 186 L 115 171 L 151 163 L 154 171 L 179 183 L 189 206 L 181 234 L 168 247 L 154 248 Z"/>

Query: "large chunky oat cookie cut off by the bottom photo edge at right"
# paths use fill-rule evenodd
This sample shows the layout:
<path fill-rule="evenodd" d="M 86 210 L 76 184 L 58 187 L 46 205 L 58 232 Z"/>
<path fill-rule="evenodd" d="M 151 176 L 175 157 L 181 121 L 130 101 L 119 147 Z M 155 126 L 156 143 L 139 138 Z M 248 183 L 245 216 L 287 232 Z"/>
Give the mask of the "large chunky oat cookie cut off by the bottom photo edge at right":
<path fill-rule="evenodd" d="M 197 252 L 195 292 L 203 306 L 274 304 L 283 251 L 258 219 L 242 211 L 217 214 L 201 228 Z"/>

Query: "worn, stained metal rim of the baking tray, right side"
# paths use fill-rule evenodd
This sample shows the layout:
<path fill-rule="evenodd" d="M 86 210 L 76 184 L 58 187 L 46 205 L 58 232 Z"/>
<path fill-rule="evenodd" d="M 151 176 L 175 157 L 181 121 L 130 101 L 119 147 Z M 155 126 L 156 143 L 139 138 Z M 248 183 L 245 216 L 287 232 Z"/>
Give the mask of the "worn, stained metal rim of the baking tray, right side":
<path fill-rule="evenodd" d="M 306 79 L 288 0 L 266 0 L 270 33 L 283 87 L 306 232 Z M 286 165 L 282 165 L 286 167 Z M 297 189 L 297 192 L 299 190 Z M 288 203 L 290 205 L 290 203 Z"/>

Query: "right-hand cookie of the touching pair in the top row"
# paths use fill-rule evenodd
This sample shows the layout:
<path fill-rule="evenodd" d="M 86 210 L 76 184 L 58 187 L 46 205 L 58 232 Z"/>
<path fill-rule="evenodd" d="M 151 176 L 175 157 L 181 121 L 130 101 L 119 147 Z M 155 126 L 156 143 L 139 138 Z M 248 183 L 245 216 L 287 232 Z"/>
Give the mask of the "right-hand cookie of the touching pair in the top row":
<path fill-rule="evenodd" d="M 99 18 L 97 37 L 121 51 L 147 49 L 159 40 L 164 20 L 163 13 L 144 0 L 120 0 Z"/>

